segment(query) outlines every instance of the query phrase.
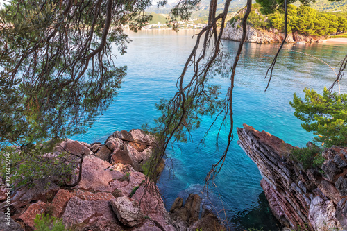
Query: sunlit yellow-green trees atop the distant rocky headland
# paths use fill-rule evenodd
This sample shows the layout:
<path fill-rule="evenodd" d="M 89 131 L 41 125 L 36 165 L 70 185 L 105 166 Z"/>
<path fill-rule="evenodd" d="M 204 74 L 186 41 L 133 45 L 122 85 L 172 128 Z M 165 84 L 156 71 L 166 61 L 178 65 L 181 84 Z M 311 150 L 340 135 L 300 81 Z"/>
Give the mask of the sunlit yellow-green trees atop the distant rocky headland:
<path fill-rule="evenodd" d="M 254 28 L 276 28 L 278 31 L 284 31 L 285 19 L 281 12 L 274 12 L 269 15 L 262 15 L 259 4 L 253 4 L 253 9 L 248 18 L 248 24 Z M 239 13 L 230 20 L 230 23 L 242 19 L 243 14 Z M 288 6 L 287 15 L 288 33 L 297 31 L 303 35 L 331 35 L 347 31 L 347 19 L 332 13 L 318 12 L 313 8 L 301 5 Z"/>

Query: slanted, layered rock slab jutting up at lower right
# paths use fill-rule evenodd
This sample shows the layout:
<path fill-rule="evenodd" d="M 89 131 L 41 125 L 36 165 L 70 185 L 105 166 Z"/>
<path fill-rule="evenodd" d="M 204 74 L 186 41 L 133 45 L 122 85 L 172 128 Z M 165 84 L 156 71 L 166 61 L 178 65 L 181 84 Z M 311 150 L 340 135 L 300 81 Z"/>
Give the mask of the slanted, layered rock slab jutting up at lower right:
<path fill-rule="evenodd" d="M 244 124 L 237 128 L 239 146 L 257 164 L 260 184 L 273 214 L 284 227 L 332 230 L 347 227 L 347 148 L 326 148 L 323 172 L 304 170 L 289 159 L 282 139 Z"/>

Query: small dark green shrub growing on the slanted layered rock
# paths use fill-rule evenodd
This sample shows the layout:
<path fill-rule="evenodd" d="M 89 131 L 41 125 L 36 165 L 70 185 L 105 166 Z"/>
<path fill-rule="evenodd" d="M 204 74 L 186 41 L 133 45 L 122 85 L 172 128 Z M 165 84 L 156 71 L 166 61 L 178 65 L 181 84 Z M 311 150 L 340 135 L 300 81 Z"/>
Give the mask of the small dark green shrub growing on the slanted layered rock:
<path fill-rule="evenodd" d="M 322 156 L 322 149 L 317 146 L 311 146 L 307 148 L 298 148 L 291 151 L 290 157 L 292 160 L 296 160 L 303 165 L 306 169 L 321 169 L 324 162 Z"/>

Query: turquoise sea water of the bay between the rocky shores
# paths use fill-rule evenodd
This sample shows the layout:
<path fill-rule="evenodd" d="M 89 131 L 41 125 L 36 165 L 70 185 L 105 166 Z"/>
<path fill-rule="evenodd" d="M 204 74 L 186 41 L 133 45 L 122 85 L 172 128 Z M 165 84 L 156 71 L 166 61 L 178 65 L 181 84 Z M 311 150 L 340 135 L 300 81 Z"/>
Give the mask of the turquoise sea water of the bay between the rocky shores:
<path fill-rule="evenodd" d="M 86 134 L 71 137 L 85 142 L 104 142 L 115 130 L 141 128 L 143 123 L 153 124 L 160 114 L 155 103 L 163 97 L 171 97 L 176 91 L 176 79 L 188 57 L 197 31 L 140 31 L 130 33 L 133 40 L 128 53 L 118 55 L 116 63 L 128 66 L 117 101 L 100 117 Z M 238 42 L 223 41 L 225 51 L 235 53 Z M 294 117 L 289 101 L 293 93 L 303 96 L 303 88 L 310 87 L 322 92 L 330 86 L 335 74 L 323 62 L 301 51 L 328 62 L 333 67 L 344 58 L 347 47 L 335 44 L 286 44 L 280 54 L 273 80 L 264 93 L 264 80 L 278 44 L 245 44 L 239 60 L 235 79 L 234 119 L 235 126 L 243 123 L 257 130 L 266 130 L 294 146 L 305 146 L 312 134 L 305 132 L 301 121 Z M 115 53 L 116 50 L 115 50 Z M 214 83 L 226 92 L 230 85 L 227 78 L 214 78 Z M 341 81 L 341 92 L 347 92 L 346 78 Z M 192 133 L 192 142 L 175 144 L 167 151 L 167 168 L 158 186 L 167 208 L 177 196 L 183 198 L 191 192 L 203 190 L 206 173 L 219 160 L 226 144 L 228 127 L 221 130 L 219 150 L 215 146 L 218 126 L 212 129 L 205 145 L 198 145 L 212 119 L 204 117 L 201 128 Z M 232 229 L 263 227 L 278 230 L 266 202 L 257 166 L 237 145 L 237 134 L 226 157 L 226 163 L 215 181 L 214 191 L 205 200 L 225 219 Z M 171 169 L 172 166 L 172 169 Z"/>

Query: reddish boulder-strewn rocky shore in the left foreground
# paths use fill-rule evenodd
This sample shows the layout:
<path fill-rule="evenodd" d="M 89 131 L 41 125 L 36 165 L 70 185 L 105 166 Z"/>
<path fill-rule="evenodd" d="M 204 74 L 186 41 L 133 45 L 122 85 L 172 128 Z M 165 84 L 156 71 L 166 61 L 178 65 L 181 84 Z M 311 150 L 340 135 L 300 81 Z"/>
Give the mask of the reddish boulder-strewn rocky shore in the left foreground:
<path fill-rule="evenodd" d="M 36 214 L 60 218 L 72 230 L 196 230 L 206 223 L 219 225 L 207 211 L 199 220 L 198 195 L 189 195 L 184 206 L 178 198 L 180 203 L 169 213 L 156 185 L 146 187 L 140 166 L 149 160 L 155 145 L 155 140 L 139 129 L 115 132 L 105 144 L 62 142 L 50 155 L 84 153 L 81 181 L 74 187 L 61 187 L 44 178 L 35 180 L 33 187 L 15 189 L 9 216 L 4 213 L 7 195 L 0 178 L 0 230 L 33 230 Z M 76 169 L 73 175 L 78 172 Z"/>

